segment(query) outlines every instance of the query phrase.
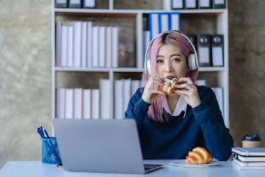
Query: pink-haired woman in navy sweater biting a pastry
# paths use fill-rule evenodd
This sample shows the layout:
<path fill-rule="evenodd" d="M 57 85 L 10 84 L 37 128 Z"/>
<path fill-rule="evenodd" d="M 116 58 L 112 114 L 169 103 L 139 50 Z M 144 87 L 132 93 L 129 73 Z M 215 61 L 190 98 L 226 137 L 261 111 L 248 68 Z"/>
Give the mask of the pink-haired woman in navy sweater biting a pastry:
<path fill-rule="evenodd" d="M 232 154 L 233 139 L 213 90 L 194 84 L 198 68 L 190 69 L 188 61 L 194 50 L 180 31 L 156 36 L 147 48 L 151 73 L 143 73 L 145 87 L 135 92 L 125 113 L 137 122 L 144 159 L 185 159 L 198 146 L 217 160 Z M 175 94 L 158 90 L 163 78 L 182 81 L 176 85 L 181 90 Z"/>

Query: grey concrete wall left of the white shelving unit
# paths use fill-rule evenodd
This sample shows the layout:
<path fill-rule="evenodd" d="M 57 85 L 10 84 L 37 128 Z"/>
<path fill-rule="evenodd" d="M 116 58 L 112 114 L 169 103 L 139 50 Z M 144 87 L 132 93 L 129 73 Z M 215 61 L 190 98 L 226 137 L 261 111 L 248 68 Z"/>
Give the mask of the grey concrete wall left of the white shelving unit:
<path fill-rule="evenodd" d="M 0 167 L 40 160 L 51 128 L 51 1 L 0 0 Z"/>

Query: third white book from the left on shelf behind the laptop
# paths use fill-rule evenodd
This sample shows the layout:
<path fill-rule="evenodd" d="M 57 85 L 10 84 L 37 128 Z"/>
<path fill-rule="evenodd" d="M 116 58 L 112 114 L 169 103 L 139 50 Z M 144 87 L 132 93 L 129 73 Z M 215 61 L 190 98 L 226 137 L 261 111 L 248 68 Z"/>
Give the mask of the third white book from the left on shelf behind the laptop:
<path fill-rule="evenodd" d="M 83 102 L 83 95 L 82 95 L 82 88 L 75 88 L 74 89 L 74 118 L 81 119 L 82 116 L 82 102 Z"/>

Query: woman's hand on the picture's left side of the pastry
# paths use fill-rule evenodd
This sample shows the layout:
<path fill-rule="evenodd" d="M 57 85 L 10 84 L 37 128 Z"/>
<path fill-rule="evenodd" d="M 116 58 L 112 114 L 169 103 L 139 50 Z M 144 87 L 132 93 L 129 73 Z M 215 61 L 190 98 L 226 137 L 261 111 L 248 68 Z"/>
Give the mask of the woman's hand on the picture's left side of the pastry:
<path fill-rule="evenodd" d="M 162 80 L 158 77 L 151 77 L 144 87 L 144 93 L 142 95 L 142 99 L 146 101 L 146 103 L 153 104 L 153 101 L 155 101 L 158 97 L 160 97 L 161 94 L 165 94 L 164 92 L 160 90 L 155 90 L 153 88 L 154 84 L 158 85 L 164 85 L 162 83 Z"/>

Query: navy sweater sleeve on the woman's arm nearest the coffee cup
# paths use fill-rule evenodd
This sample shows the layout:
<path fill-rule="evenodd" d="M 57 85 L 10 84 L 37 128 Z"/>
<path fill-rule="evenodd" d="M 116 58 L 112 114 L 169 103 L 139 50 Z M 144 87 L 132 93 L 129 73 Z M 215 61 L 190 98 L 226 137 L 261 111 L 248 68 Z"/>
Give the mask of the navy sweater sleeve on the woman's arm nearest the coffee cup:
<path fill-rule="evenodd" d="M 228 160 L 232 155 L 233 139 L 225 127 L 218 101 L 213 90 L 206 90 L 209 99 L 192 108 L 204 134 L 206 148 L 217 160 Z"/>

